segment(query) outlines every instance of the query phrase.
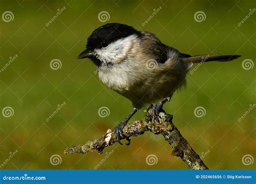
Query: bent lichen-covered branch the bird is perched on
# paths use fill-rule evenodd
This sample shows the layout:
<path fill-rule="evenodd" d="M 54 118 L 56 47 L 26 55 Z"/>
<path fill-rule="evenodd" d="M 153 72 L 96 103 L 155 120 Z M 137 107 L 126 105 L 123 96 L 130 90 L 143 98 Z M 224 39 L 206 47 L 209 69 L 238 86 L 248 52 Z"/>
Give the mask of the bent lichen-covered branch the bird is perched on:
<path fill-rule="evenodd" d="M 180 157 L 191 169 L 208 169 L 203 160 L 200 159 L 199 155 L 188 144 L 187 140 L 181 136 L 176 126 L 173 125 L 172 115 L 160 112 L 159 121 L 154 121 L 152 114 L 151 109 L 149 113 L 146 113 L 142 121 L 125 125 L 122 139 L 142 135 L 145 131 L 150 131 L 156 135 L 161 133 L 165 140 L 173 147 L 172 155 Z M 102 154 L 105 147 L 111 146 L 116 142 L 116 135 L 109 129 L 103 137 L 89 140 L 83 145 L 68 147 L 64 150 L 64 153 L 88 153 L 97 150 Z"/>

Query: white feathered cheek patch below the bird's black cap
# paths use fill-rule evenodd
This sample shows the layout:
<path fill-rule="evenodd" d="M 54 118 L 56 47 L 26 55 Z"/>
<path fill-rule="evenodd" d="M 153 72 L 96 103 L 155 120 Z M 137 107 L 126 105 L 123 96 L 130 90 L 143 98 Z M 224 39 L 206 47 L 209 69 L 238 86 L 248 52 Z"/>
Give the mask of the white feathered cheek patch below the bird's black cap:
<path fill-rule="evenodd" d="M 137 36 L 132 35 L 114 41 L 107 47 L 95 49 L 97 59 L 105 63 L 117 63 L 125 58 Z"/>

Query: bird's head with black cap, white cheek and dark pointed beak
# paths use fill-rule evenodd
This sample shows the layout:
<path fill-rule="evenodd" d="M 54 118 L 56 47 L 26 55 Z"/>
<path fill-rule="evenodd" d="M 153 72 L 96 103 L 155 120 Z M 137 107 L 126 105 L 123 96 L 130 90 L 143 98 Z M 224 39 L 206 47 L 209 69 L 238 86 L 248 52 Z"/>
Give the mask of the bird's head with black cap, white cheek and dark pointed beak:
<path fill-rule="evenodd" d="M 97 65 L 111 66 L 121 62 L 138 43 L 141 33 L 131 26 L 110 23 L 98 27 L 87 40 L 78 59 L 89 58 Z"/>

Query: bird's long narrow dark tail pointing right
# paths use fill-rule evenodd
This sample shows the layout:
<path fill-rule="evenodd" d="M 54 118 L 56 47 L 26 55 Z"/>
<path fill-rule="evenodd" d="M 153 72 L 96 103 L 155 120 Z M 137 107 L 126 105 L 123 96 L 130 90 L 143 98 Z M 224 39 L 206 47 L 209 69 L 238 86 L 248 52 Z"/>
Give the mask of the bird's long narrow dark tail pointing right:
<path fill-rule="evenodd" d="M 239 58 L 241 55 L 220 55 L 220 54 L 204 54 L 204 55 L 195 55 L 188 58 L 183 58 L 185 63 L 191 62 L 208 62 L 208 61 L 232 61 Z"/>

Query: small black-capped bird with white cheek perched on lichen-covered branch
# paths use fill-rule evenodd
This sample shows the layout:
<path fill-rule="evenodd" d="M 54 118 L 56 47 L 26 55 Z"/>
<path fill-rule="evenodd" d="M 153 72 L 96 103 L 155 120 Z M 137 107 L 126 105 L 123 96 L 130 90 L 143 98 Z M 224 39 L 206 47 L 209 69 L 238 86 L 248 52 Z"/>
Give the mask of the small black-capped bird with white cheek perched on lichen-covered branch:
<path fill-rule="evenodd" d="M 231 61 L 240 56 L 183 54 L 161 43 L 153 33 L 109 23 L 92 32 L 78 59 L 91 59 L 98 67 L 100 81 L 132 102 L 131 114 L 114 129 L 122 144 L 124 125 L 144 105 L 150 104 L 147 109 L 152 108 L 154 119 L 158 120 L 164 103 L 170 101 L 174 91 L 185 87 L 186 74 L 193 63 Z M 130 137 L 126 139 L 129 145 Z"/>

